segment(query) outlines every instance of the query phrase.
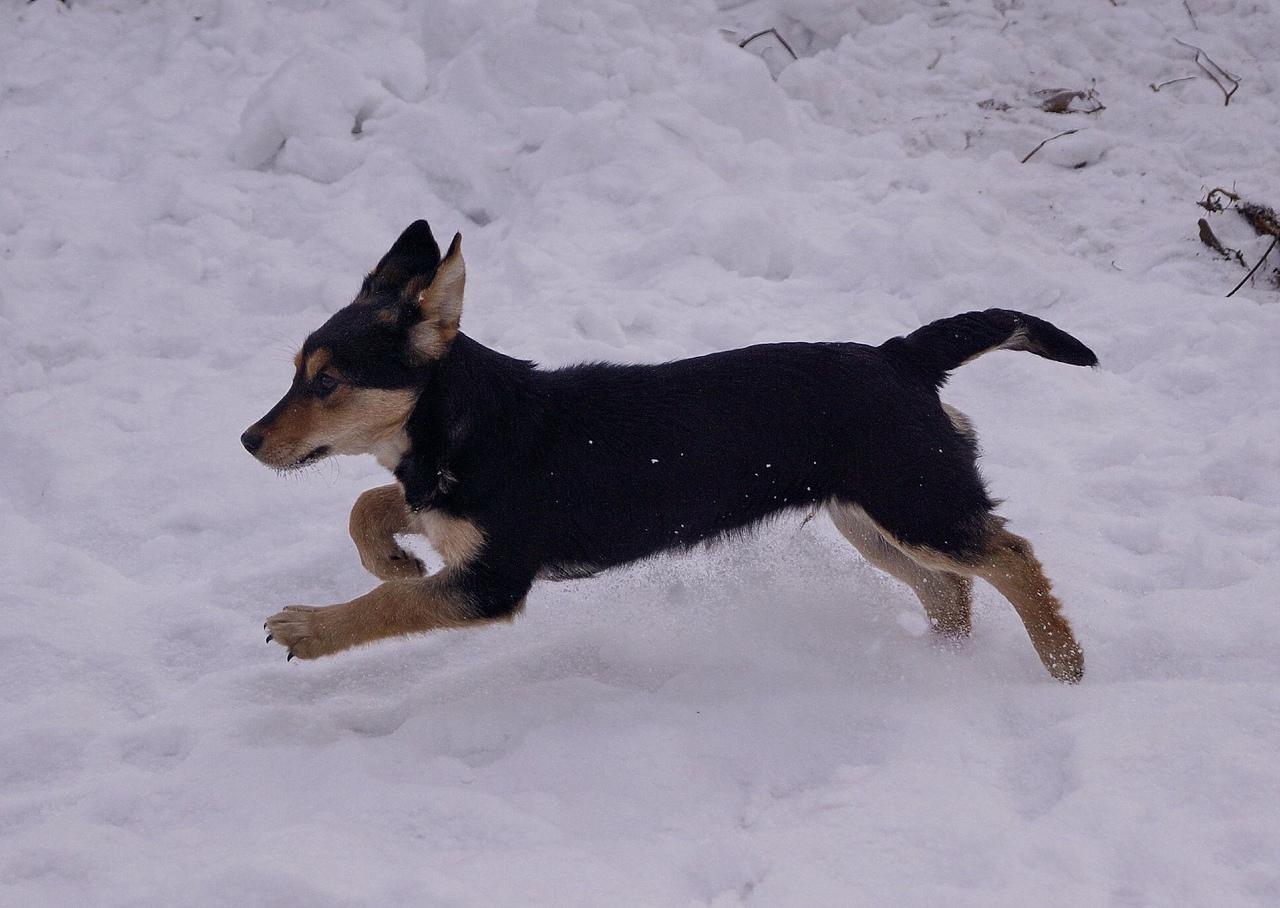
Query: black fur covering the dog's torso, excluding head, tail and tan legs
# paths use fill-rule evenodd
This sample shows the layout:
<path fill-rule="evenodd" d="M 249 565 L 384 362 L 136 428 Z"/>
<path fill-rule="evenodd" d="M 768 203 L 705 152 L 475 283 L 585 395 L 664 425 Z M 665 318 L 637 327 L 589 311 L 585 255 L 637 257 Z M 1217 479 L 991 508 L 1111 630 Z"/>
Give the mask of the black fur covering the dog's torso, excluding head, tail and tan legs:
<path fill-rule="evenodd" d="M 476 524 L 474 598 L 580 576 L 827 501 L 970 557 L 992 501 L 972 439 L 913 364 L 777 343 L 662 365 L 540 370 L 460 336 L 425 375 L 397 470 L 415 508 Z"/>

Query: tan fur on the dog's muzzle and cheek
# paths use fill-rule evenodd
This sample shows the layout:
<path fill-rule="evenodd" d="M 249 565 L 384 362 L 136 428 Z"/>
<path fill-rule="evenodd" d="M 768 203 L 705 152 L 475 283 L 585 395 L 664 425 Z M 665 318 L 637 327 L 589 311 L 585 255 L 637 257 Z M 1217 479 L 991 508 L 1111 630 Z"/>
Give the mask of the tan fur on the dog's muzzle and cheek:
<path fill-rule="evenodd" d="M 367 453 L 384 447 L 403 433 L 417 393 L 347 383 L 324 400 L 291 391 L 293 400 L 270 425 L 262 426 L 265 442 L 257 457 L 270 466 L 288 469 L 320 447 L 329 453 Z"/>

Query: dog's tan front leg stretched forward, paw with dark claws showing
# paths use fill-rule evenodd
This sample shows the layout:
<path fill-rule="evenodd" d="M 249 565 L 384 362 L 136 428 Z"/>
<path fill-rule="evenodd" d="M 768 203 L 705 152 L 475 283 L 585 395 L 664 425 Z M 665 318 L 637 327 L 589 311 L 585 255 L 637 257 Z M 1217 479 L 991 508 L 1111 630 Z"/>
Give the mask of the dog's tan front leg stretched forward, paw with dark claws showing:
<path fill-rule="evenodd" d="M 388 636 L 420 634 L 511 620 L 521 602 L 494 613 L 477 604 L 456 571 L 413 580 L 388 580 L 365 596 L 338 606 L 289 606 L 266 620 L 274 639 L 294 656 L 314 660 Z"/>

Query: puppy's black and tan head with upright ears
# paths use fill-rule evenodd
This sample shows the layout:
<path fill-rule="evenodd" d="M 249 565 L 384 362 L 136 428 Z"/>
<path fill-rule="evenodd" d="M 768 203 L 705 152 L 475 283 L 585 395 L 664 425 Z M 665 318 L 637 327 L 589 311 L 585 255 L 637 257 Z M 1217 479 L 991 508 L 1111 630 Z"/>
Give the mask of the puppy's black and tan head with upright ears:
<path fill-rule="evenodd" d="M 465 283 L 462 234 L 442 260 L 428 223 L 411 224 L 356 300 L 303 342 L 293 384 L 241 435 L 244 448 L 268 466 L 292 470 L 394 444 L 425 370 L 458 334 Z"/>

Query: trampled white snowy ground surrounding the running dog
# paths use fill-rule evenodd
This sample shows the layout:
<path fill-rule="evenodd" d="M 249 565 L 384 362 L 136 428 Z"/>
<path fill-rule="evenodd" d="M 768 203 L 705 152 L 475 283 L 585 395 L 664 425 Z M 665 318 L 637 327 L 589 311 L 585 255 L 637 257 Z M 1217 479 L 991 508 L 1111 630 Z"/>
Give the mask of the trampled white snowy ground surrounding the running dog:
<path fill-rule="evenodd" d="M 0 903 L 1280 903 L 1280 292 L 1194 204 L 1280 204 L 1280 5 L 1117 3 L 0 5 Z M 545 364 L 1079 334 L 947 400 L 1084 684 L 824 520 L 287 665 L 385 478 L 237 437 L 417 216 Z"/>

